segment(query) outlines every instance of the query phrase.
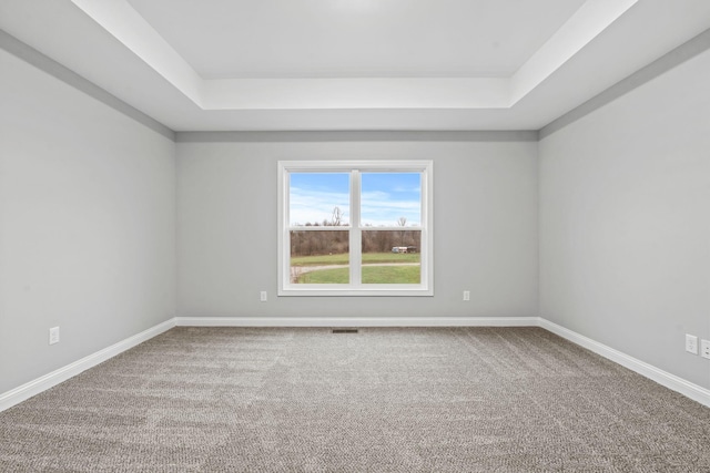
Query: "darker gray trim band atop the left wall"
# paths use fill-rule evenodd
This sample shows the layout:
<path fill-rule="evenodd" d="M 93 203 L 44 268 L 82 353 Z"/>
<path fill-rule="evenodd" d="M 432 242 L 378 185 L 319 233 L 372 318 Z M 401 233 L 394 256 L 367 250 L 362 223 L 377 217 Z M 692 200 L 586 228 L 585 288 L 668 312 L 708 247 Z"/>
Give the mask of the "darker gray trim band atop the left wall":
<path fill-rule="evenodd" d="M 53 59 L 50 59 L 38 50 L 29 47 L 4 30 L 0 30 L 0 49 L 27 62 L 28 64 L 33 65 L 40 71 L 64 82 L 67 85 L 85 93 L 87 95 L 98 100 L 104 105 L 110 106 L 116 112 L 120 112 L 129 116 L 130 119 L 135 120 L 136 122 L 143 124 L 144 126 L 148 126 L 149 128 L 165 136 L 166 138 L 172 140 L 173 142 L 175 141 L 175 132 L 168 126 L 144 114 L 140 110 L 129 105 L 115 95 L 110 94 L 99 85 L 82 78 L 74 71 L 63 66 Z"/>

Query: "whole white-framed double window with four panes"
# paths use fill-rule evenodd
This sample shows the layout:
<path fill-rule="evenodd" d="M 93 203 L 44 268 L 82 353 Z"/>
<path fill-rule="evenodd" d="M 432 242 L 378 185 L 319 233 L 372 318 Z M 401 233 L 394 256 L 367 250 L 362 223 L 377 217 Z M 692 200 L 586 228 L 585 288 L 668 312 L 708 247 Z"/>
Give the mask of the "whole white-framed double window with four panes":
<path fill-rule="evenodd" d="M 278 295 L 433 295 L 432 166 L 280 162 Z"/>

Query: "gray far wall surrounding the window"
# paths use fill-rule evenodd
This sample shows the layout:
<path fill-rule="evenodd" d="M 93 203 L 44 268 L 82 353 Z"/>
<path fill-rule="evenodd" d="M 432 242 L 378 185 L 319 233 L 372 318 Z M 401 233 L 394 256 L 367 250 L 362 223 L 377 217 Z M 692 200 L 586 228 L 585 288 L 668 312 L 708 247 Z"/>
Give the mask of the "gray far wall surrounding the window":
<path fill-rule="evenodd" d="M 275 297 L 280 160 L 433 160 L 434 297 Z M 180 316 L 537 315 L 536 133 L 179 134 L 178 208 Z"/>

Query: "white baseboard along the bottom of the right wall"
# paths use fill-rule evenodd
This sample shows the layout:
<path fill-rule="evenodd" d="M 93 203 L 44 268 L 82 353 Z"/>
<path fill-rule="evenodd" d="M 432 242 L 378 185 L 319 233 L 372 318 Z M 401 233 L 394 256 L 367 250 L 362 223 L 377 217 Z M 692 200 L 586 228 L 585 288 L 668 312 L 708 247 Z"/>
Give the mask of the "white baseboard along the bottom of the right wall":
<path fill-rule="evenodd" d="M 549 320 L 540 318 L 539 327 L 710 408 L 710 390 L 708 389 L 693 384 L 690 381 L 677 377 L 676 374 L 658 369 L 645 361 L 637 360 L 636 358 L 619 350 L 615 350 L 613 348 L 599 343 L 598 341 L 558 326 L 557 323 L 550 322 Z"/>

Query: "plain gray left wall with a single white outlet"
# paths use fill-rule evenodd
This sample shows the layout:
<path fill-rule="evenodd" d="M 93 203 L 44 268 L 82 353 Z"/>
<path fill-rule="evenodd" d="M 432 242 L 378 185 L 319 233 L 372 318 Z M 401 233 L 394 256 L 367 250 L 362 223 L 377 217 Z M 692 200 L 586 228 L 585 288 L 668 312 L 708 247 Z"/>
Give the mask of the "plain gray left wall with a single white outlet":
<path fill-rule="evenodd" d="M 0 71 L 2 393 L 174 316 L 175 144 L 2 50 Z"/>

